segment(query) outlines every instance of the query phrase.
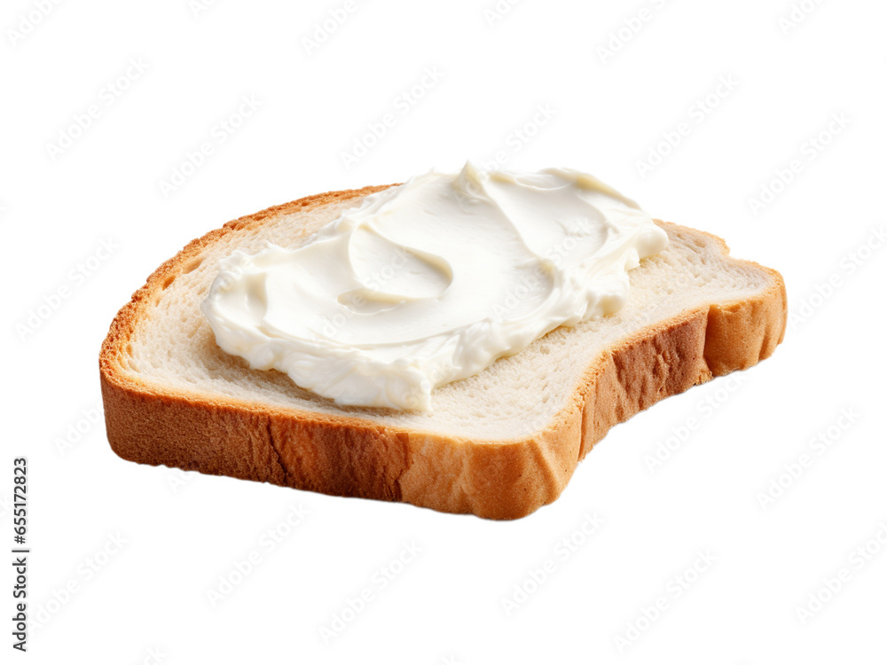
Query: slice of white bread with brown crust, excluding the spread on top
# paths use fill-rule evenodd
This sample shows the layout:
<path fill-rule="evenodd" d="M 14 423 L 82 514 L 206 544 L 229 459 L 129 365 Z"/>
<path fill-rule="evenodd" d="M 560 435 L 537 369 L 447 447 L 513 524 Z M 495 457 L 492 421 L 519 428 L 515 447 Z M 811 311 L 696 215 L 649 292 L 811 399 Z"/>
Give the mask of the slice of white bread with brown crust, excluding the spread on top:
<path fill-rule="evenodd" d="M 390 185 L 389 185 L 390 186 Z M 193 240 L 120 310 L 99 357 L 120 457 L 326 494 L 512 519 L 551 503 L 611 426 L 773 353 L 786 324 L 775 270 L 703 231 L 631 271 L 623 309 L 558 328 L 437 388 L 432 410 L 341 407 L 216 346 L 200 311 L 234 249 L 298 246 L 385 187 L 271 207 Z"/>

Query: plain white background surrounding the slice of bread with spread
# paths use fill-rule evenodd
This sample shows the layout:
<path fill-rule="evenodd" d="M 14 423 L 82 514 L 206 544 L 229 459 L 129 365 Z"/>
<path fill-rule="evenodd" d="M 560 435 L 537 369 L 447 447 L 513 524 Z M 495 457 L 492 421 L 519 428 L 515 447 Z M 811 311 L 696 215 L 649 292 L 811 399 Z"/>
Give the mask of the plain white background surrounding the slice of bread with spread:
<path fill-rule="evenodd" d="M 39 623 L 14 658 L 887 661 L 887 542 L 876 540 L 887 540 L 887 250 L 867 245 L 883 245 L 887 221 L 887 7 L 525 0 L 499 4 L 497 18 L 492 1 L 354 3 L 326 37 L 318 29 L 343 2 L 223 0 L 196 14 L 187 0 L 62 2 L 48 13 L 4 3 L 0 532 L 11 545 L 12 458 L 24 455 Z M 305 42 L 315 37 L 323 43 Z M 130 68 L 138 59 L 145 71 Z M 426 68 L 439 80 L 411 92 Z M 243 96 L 257 110 L 220 134 Z M 92 105 L 97 117 L 78 131 Z M 356 163 L 343 158 L 386 113 L 385 135 Z M 163 192 L 203 142 L 212 153 Z M 98 347 L 157 265 L 233 217 L 467 158 L 583 169 L 781 270 L 784 344 L 741 386 L 718 379 L 616 426 L 556 503 L 512 522 L 114 456 L 104 426 L 89 423 Z M 751 202 L 765 188 L 778 193 Z M 99 251 L 109 239 L 110 255 Z M 69 277 L 93 256 L 88 277 Z M 23 332 L 61 287 L 59 307 Z M 648 456 L 679 434 L 651 471 Z M 780 478 L 805 454 L 797 479 Z M 773 482 L 786 489 L 763 500 L 779 493 Z M 263 534 L 293 505 L 309 514 L 271 551 Z M 579 537 L 586 514 L 602 523 Z M 120 547 L 109 541 L 118 534 Z M 561 541 L 573 536 L 584 542 L 570 551 Z M 379 571 L 412 543 L 421 552 L 382 589 Z M 867 558 L 853 554 L 866 544 Z M 238 580 L 237 562 L 254 551 L 258 562 L 214 606 L 208 591 Z M 678 594 L 698 552 L 716 560 Z M 530 572 L 546 559 L 553 572 L 533 590 Z M 808 594 L 828 597 L 824 578 L 843 568 L 848 581 L 802 617 Z M 532 591 L 520 604 L 515 585 Z M 366 590 L 372 600 L 325 642 L 321 628 Z M 665 609 L 648 621 L 657 599 Z"/>

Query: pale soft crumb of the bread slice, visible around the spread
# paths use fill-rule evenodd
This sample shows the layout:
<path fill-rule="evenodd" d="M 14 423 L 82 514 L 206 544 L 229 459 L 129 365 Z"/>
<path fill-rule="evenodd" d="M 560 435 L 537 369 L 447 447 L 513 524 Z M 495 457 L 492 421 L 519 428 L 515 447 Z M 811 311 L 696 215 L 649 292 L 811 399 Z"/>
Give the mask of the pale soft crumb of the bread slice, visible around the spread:
<path fill-rule="evenodd" d="M 670 244 L 631 272 L 631 295 L 613 316 L 559 328 L 515 356 L 483 372 L 437 388 L 432 411 L 339 407 L 294 385 L 274 371 L 251 370 L 246 361 L 216 346 L 200 301 L 224 256 L 254 253 L 271 241 L 298 246 L 359 199 L 266 215 L 218 234 L 195 257 L 178 266 L 148 299 L 120 358 L 122 372 L 149 387 L 195 398 L 232 398 L 284 409 L 370 419 L 381 425 L 440 432 L 475 441 L 506 441 L 544 429 L 567 404 L 595 357 L 648 325 L 687 309 L 740 301 L 760 293 L 770 275 L 752 263 L 726 257 L 712 236 L 664 224 Z"/>

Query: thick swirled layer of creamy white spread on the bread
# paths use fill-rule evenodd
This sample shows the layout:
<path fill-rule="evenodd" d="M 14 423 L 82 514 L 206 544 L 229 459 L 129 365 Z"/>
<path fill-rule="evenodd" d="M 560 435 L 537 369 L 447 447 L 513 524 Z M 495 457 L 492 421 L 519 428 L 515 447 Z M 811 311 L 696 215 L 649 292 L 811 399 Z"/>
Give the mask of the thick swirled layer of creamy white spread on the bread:
<path fill-rule="evenodd" d="M 469 162 L 365 197 L 302 246 L 234 252 L 202 307 L 254 369 L 340 404 L 427 411 L 435 387 L 616 312 L 627 271 L 667 243 L 593 176 Z"/>

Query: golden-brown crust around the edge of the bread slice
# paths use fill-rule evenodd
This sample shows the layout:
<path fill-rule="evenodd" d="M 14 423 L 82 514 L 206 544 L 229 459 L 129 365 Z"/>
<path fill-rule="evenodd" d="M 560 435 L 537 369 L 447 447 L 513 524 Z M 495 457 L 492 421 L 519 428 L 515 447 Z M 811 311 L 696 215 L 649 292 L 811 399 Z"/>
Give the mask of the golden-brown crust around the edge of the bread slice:
<path fill-rule="evenodd" d="M 392 185 L 327 192 L 270 207 L 192 240 L 164 262 L 114 317 L 99 354 L 108 441 L 121 458 L 271 482 L 343 497 L 404 501 L 442 512 L 515 519 L 553 502 L 578 462 L 608 429 L 669 395 L 757 364 L 782 341 L 787 317 L 781 275 L 756 297 L 710 303 L 657 321 L 589 359 L 584 379 L 545 428 L 510 441 L 474 441 L 383 426 L 348 415 L 189 394 L 143 381 L 124 367 L 148 303 L 200 251 L 272 215 L 309 210 Z M 666 229 L 715 239 L 703 231 Z"/>

